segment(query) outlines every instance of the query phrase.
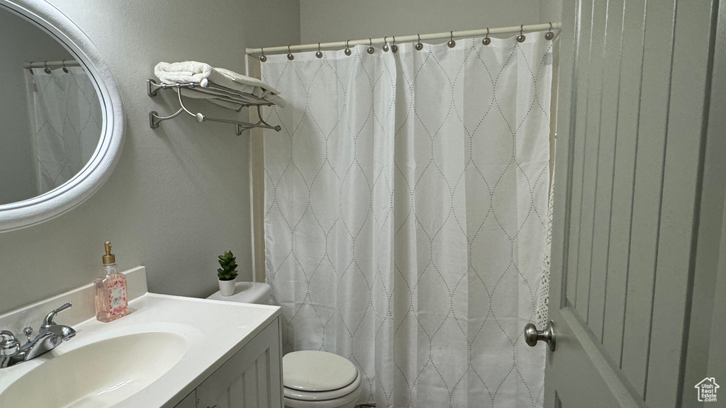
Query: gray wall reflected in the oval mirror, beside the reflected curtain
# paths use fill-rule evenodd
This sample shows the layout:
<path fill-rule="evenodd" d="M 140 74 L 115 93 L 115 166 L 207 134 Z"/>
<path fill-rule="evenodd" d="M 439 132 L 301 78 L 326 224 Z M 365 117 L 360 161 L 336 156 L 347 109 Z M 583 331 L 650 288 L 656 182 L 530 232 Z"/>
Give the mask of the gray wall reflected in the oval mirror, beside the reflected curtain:
<path fill-rule="evenodd" d="M 38 194 L 24 62 L 69 60 L 70 54 L 44 30 L 7 9 L 0 9 L 0 204 Z"/>

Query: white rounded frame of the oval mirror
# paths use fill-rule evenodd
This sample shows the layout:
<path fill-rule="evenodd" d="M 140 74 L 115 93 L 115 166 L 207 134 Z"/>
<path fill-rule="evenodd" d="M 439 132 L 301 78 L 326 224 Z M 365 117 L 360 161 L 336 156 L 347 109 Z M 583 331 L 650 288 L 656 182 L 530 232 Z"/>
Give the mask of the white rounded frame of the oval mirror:
<path fill-rule="evenodd" d="M 75 54 L 94 82 L 103 113 L 96 152 L 76 176 L 43 195 L 0 205 L 0 232 L 7 232 L 53 219 L 91 197 L 108 179 L 121 155 L 124 117 L 113 74 L 93 42 L 68 16 L 44 0 L 0 0 L 3 7 L 43 28 Z"/>

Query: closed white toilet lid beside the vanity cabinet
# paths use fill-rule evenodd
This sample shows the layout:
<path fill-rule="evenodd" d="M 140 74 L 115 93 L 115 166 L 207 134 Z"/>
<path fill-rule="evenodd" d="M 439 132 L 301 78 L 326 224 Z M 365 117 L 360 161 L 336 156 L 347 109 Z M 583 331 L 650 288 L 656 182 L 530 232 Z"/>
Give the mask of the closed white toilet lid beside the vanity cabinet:
<path fill-rule="evenodd" d="M 331 391 L 353 383 L 358 369 L 337 354 L 293 351 L 282 357 L 285 387 L 301 391 Z"/>

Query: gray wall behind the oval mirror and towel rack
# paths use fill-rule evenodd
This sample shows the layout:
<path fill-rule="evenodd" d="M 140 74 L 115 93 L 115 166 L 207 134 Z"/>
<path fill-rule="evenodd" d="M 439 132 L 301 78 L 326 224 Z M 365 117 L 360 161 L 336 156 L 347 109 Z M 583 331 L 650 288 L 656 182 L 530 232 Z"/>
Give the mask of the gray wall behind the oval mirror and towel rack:
<path fill-rule="evenodd" d="M 153 130 L 148 113 L 176 109 L 150 98 L 159 61 L 200 60 L 244 72 L 245 46 L 299 42 L 297 0 L 52 0 L 91 38 L 121 89 L 126 144 L 115 171 L 63 216 L 0 234 L 0 313 L 85 285 L 110 240 L 120 269 L 146 265 L 149 289 L 205 296 L 216 256 L 250 264 L 248 136 L 234 126 L 176 118 Z M 192 105 L 208 115 L 236 113 Z M 245 273 L 242 279 L 248 278 Z"/>

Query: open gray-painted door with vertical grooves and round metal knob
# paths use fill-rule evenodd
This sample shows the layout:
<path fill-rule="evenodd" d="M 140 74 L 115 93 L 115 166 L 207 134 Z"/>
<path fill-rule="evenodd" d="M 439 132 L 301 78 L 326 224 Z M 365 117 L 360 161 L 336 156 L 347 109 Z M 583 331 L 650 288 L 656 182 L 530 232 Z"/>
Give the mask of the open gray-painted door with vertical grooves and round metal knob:
<path fill-rule="evenodd" d="M 726 161 L 717 7 L 564 1 L 545 407 L 700 406 Z"/>

